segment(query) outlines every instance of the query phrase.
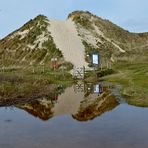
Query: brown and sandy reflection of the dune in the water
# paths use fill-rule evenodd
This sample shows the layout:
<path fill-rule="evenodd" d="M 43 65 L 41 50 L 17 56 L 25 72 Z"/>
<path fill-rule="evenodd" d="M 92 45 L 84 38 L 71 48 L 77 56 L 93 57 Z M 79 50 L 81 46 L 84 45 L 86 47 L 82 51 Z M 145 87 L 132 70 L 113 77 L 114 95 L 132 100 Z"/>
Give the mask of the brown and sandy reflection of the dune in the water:
<path fill-rule="evenodd" d="M 18 103 L 22 109 L 41 120 L 55 116 L 71 115 L 78 121 L 92 120 L 119 105 L 107 84 L 78 82 L 63 93 L 53 93 L 47 98 Z"/>

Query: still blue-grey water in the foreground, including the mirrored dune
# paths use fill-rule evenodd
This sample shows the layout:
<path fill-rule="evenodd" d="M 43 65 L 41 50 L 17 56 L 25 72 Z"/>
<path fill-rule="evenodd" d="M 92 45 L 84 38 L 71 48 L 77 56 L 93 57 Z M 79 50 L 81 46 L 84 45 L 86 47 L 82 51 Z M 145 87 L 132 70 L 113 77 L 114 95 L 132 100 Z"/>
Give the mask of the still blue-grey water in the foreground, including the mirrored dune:
<path fill-rule="evenodd" d="M 148 108 L 110 85 L 78 84 L 0 108 L 0 148 L 147 148 Z"/>

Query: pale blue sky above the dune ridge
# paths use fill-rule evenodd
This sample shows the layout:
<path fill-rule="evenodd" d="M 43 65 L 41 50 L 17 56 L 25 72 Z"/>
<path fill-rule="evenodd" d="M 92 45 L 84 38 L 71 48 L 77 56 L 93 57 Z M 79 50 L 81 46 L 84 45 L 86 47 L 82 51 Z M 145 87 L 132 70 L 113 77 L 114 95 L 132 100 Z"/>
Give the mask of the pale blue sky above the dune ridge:
<path fill-rule="evenodd" d="M 0 0 L 0 38 L 44 14 L 64 20 L 88 10 L 132 32 L 148 32 L 148 0 Z"/>

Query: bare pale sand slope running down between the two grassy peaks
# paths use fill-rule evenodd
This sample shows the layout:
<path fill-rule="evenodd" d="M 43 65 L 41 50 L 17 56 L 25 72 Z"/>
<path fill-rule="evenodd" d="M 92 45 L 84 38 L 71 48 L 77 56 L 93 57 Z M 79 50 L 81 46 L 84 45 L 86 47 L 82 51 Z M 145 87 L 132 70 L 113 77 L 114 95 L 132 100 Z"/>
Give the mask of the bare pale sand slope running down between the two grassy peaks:
<path fill-rule="evenodd" d="M 73 63 L 76 67 L 87 67 L 84 58 L 84 46 L 71 20 L 50 20 L 49 31 L 66 61 Z"/>

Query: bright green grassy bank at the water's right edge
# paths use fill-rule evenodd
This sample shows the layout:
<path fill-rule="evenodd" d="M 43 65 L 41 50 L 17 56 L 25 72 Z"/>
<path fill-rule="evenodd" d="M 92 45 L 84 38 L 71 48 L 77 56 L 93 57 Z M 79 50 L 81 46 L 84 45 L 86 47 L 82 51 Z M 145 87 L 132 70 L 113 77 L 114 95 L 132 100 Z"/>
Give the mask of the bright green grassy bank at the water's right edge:
<path fill-rule="evenodd" d="M 121 84 L 121 93 L 129 104 L 148 106 L 148 63 L 118 64 L 114 69 L 116 74 L 102 79 Z"/>

